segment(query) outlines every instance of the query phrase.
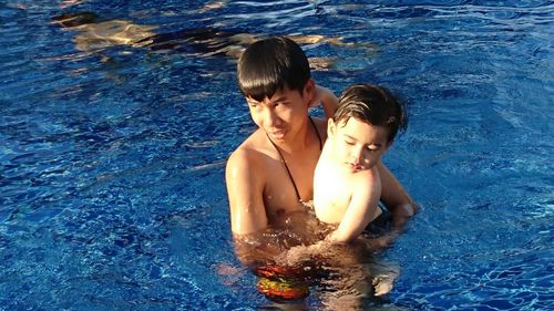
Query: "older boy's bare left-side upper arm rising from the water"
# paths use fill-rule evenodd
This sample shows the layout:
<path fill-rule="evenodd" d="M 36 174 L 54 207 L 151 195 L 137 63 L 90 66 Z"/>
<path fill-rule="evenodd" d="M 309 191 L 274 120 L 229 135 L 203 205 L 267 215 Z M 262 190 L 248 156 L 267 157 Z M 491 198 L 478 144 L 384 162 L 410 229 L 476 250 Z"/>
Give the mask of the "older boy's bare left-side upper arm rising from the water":
<path fill-rule="evenodd" d="M 227 160 L 225 179 L 233 234 L 246 235 L 267 227 L 263 172 L 246 151 L 234 152 Z"/>

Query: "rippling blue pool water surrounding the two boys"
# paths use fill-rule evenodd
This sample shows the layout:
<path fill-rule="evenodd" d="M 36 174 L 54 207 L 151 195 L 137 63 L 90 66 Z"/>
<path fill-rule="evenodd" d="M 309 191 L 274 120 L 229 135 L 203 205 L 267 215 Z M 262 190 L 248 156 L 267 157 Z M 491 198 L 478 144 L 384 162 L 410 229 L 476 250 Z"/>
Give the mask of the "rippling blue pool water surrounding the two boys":
<path fill-rule="evenodd" d="M 106 28 L 52 22 L 76 12 Z M 0 22 L 1 310 L 277 308 L 233 250 L 225 160 L 254 125 L 234 58 L 183 40 L 207 27 L 341 38 L 302 44 L 318 83 L 409 102 L 386 163 L 422 209 L 365 310 L 554 309 L 552 1 L 10 0 Z"/>

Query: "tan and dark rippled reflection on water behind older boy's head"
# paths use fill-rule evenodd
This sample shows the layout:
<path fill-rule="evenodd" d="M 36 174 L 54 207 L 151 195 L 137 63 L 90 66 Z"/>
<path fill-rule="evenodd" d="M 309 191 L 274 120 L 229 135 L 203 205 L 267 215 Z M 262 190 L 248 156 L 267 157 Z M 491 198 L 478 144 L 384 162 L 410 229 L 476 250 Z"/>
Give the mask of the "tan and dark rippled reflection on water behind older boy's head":
<path fill-rule="evenodd" d="M 209 58 L 224 55 L 237 60 L 250 43 L 268 37 L 213 27 L 184 29 L 174 32 L 157 32 L 158 25 L 137 24 L 130 20 L 102 20 L 93 12 L 64 13 L 52 18 L 61 28 L 73 30 L 75 48 L 82 52 L 101 52 L 111 46 L 124 45 L 148 49 L 155 52 L 192 53 Z M 372 52 L 370 43 L 345 42 L 341 37 L 320 34 L 286 35 L 300 45 L 331 44 L 346 48 L 362 48 Z M 328 70 L 335 65 L 334 58 L 311 58 L 314 70 Z"/>

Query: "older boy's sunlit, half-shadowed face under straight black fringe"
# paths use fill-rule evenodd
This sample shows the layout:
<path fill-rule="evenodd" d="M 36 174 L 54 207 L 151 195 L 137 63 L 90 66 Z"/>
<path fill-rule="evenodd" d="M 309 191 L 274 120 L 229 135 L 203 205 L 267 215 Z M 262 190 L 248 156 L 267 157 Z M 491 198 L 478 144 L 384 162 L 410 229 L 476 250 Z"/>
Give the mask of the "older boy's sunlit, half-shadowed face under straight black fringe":
<path fill-rule="evenodd" d="M 314 82 L 310 80 L 300 93 L 285 86 L 270 99 L 258 102 L 247 97 L 250 116 L 273 142 L 294 139 L 308 114 L 308 105 L 314 96 Z"/>

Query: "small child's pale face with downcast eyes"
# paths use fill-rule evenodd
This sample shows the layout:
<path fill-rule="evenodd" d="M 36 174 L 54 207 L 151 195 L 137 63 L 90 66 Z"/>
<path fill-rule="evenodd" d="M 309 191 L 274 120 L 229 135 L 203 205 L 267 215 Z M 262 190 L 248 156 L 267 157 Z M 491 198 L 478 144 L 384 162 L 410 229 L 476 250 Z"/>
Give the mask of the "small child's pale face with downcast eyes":
<path fill-rule="evenodd" d="M 372 168 L 390 146 L 389 129 L 349 117 L 336 124 L 329 118 L 334 158 L 351 173 Z"/>

